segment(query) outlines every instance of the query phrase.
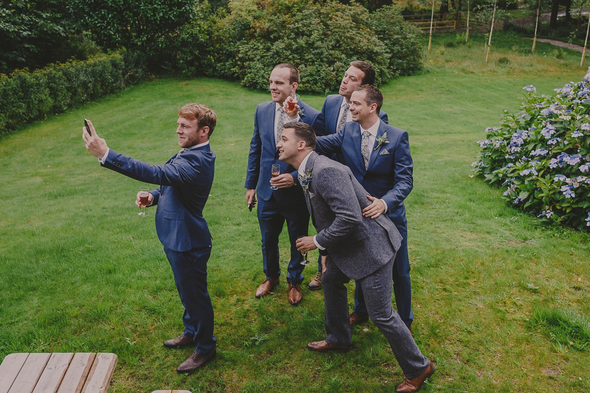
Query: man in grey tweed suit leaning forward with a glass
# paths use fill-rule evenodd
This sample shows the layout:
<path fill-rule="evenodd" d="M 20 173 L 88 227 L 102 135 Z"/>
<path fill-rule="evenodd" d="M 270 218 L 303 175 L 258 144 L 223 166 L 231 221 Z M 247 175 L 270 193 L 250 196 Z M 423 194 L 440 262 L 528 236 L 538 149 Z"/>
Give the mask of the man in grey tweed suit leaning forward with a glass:
<path fill-rule="evenodd" d="M 348 350 L 352 346 L 345 283 L 362 286 L 369 317 L 385 335 L 406 379 L 398 392 L 417 391 L 434 373 L 411 333 L 391 305 L 391 273 L 401 236 L 387 217 L 363 217 L 371 204 L 350 169 L 313 150 L 316 136 L 305 123 L 287 123 L 277 143 L 278 159 L 299 172 L 316 236 L 297 240 L 301 251 L 322 254 L 326 339 L 307 344 L 312 351 Z"/>

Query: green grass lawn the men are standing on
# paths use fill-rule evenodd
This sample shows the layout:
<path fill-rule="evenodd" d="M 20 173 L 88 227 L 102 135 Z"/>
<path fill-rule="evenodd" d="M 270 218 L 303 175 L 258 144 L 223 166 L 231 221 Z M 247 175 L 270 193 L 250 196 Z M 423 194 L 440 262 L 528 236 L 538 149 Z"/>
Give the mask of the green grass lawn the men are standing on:
<path fill-rule="evenodd" d="M 407 199 L 413 329 L 437 365 L 422 390 L 589 391 L 590 236 L 542 226 L 507 206 L 503 190 L 470 177 L 475 142 L 502 110 L 518 110 L 523 86 L 551 94 L 586 70 L 575 52 L 553 58 L 548 44 L 519 54 L 514 45 L 529 44 L 515 38 L 492 47 L 486 65 L 483 37 L 445 47 L 451 39 L 435 37 L 420 75 L 382 86 L 383 110 L 409 132 L 415 164 Z M 321 108 L 324 97 L 302 96 Z M 393 391 L 403 376 L 372 323 L 354 329 L 352 351 L 317 354 L 306 343 L 323 338 L 321 291 L 305 289 L 296 307 L 284 282 L 274 296 L 254 298 L 264 277 L 244 178 L 254 108 L 268 99 L 225 81 L 155 79 L 0 138 L 0 359 L 114 352 L 109 392 L 121 393 Z M 143 184 L 102 169 L 81 127 L 89 118 L 114 150 L 163 163 L 178 151 L 176 110 L 191 101 L 218 113 L 205 208 L 218 356 L 178 375 L 192 349 L 162 346 L 182 331 L 181 304 L 153 211 L 137 216 Z M 286 267 L 286 236 L 281 242 Z M 305 274 L 307 283 L 313 264 Z M 550 330 L 537 318 L 553 310 L 573 328 Z"/>

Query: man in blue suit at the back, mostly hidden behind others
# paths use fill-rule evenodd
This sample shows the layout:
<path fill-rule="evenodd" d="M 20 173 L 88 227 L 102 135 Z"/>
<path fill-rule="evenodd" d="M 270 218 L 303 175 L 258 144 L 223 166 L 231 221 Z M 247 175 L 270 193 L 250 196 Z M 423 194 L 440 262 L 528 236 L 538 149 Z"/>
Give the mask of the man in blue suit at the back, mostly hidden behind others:
<path fill-rule="evenodd" d="M 312 124 L 317 136 L 336 134 L 342 130 L 346 122 L 352 121 L 352 115 L 349 111 L 350 96 L 355 91 L 355 87 L 367 84 L 375 84 L 375 68 L 366 61 L 351 61 L 350 67 L 346 70 L 340 82 L 338 94 L 331 94 L 326 97 L 322 112 Z M 385 112 L 380 110 L 379 118 L 385 124 L 388 124 L 387 114 Z M 342 156 L 340 154 L 333 153 L 327 154 L 327 156 L 332 158 L 332 160 L 342 163 Z M 307 285 L 307 288 L 311 290 L 322 288 L 322 266 L 320 261 L 317 263 L 317 276 Z M 356 302 L 355 296 L 355 304 Z"/>

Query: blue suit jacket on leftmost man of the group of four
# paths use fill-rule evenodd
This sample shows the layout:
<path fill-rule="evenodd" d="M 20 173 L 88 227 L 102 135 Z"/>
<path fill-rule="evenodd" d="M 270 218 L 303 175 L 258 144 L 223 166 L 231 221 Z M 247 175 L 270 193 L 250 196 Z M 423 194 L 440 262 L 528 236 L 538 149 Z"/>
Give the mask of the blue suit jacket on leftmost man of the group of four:
<path fill-rule="evenodd" d="M 319 111 L 299 101 L 303 113 L 300 121 L 312 126 Z M 297 170 L 283 161 L 278 160 L 278 150 L 274 138 L 274 115 L 276 105 L 273 101 L 258 104 L 254 114 L 254 135 L 250 142 L 250 153 L 248 153 L 248 169 L 246 172 L 245 188 L 256 189 L 258 197 L 264 200 L 270 199 L 271 195 L 279 204 L 305 203 L 301 186 L 297 182 Z M 296 185 L 286 188 L 271 190 L 271 167 L 273 164 L 280 164 L 281 174 L 290 173 L 295 179 Z"/>

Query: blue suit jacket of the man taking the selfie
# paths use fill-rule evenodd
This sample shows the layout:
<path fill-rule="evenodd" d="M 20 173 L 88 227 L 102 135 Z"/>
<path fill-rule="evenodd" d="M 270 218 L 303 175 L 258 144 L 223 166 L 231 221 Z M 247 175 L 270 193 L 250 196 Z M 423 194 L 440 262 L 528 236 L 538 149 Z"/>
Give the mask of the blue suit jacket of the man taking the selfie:
<path fill-rule="evenodd" d="M 215 154 L 209 145 L 185 151 L 165 164 L 150 165 L 110 150 L 104 167 L 146 183 L 161 184 L 153 194 L 156 233 L 162 245 L 175 251 L 211 246 L 211 233 L 203 217 L 215 171 Z"/>

